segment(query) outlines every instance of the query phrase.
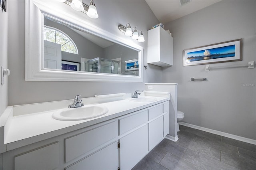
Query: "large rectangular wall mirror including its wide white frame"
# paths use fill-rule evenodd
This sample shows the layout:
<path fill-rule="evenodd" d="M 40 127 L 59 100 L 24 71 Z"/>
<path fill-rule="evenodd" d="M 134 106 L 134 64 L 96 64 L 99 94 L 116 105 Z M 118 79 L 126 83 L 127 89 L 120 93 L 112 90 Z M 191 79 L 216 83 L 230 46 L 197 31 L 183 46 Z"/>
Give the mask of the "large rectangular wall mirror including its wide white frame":
<path fill-rule="evenodd" d="M 82 12 L 72 16 L 68 7 L 26 1 L 26 80 L 142 81 L 143 48 L 84 22 Z"/>

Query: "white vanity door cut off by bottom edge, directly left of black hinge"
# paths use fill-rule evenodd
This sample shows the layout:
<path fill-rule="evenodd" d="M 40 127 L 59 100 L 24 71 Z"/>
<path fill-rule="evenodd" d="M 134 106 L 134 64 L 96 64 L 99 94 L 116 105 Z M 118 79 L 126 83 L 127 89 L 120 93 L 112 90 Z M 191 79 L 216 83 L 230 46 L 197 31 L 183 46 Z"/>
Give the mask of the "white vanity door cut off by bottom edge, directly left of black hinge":
<path fill-rule="evenodd" d="M 65 168 L 65 170 L 117 170 L 117 141 L 83 160 Z"/>

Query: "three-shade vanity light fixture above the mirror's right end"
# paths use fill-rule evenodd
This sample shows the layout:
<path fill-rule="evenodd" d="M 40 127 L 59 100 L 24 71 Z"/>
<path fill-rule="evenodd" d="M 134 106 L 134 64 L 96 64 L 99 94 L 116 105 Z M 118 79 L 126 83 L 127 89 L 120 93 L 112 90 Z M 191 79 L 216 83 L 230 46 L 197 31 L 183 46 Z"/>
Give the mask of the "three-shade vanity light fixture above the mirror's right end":
<path fill-rule="evenodd" d="M 134 30 L 134 28 L 135 28 L 135 30 Z M 145 40 L 144 40 L 142 31 L 139 31 L 141 33 L 138 34 L 136 27 L 134 27 L 134 28 L 131 29 L 130 23 L 127 23 L 126 26 L 123 26 L 121 24 L 118 26 L 119 31 L 124 33 L 124 35 L 130 36 L 130 37 L 132 37 L 132 39 L 138 40 L 138 42 L 144 42 Z"/>

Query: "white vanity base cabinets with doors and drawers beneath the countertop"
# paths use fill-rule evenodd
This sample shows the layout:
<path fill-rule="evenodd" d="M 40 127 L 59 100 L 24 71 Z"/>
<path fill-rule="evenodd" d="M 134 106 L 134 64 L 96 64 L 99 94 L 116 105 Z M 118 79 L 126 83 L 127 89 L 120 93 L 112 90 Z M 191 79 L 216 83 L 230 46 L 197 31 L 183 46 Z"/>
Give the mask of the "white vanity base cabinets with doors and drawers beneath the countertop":
<path fill-rule="evenodd" d="M 130 170 L 168 134 L 167 115 L 165 101 L 10 150 L 2 153 L 2 169 Z"/>

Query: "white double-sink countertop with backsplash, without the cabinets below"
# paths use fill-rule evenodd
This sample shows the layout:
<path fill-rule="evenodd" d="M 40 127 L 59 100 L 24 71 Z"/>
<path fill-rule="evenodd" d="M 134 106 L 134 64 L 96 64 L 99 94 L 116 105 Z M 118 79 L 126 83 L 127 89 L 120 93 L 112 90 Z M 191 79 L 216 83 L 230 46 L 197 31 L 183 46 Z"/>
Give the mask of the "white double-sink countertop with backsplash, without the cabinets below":
<path fill-rule="evenodd" d="M 95 95 L 83 98 L 84 106 L 76 108 L 68 108 L 74 100 L 9 106 L 1 116 L 4 150 L 116 119 L 170 99 L 167 92 L 144 91 L 138 98 L 132 98 L 132 94 Z"/>

